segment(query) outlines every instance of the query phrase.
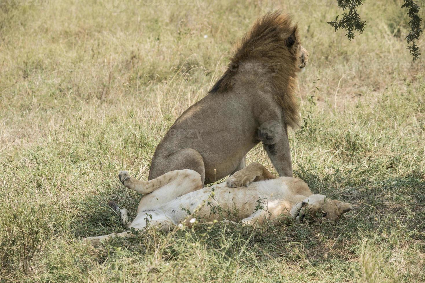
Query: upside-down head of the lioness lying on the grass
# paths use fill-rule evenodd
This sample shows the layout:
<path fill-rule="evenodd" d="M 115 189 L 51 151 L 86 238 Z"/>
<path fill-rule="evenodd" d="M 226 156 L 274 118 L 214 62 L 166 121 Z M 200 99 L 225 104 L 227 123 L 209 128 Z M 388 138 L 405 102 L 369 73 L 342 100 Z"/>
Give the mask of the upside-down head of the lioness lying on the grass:
<path fill-rule="evenodd" d="M 341 215 L 353 209 L 353 206 L 336 199 L 315 194 L 299 202 L 291 209 L 291 216 L 296 221 L 311 219 L 315 222 L 336 221 Z"/>

